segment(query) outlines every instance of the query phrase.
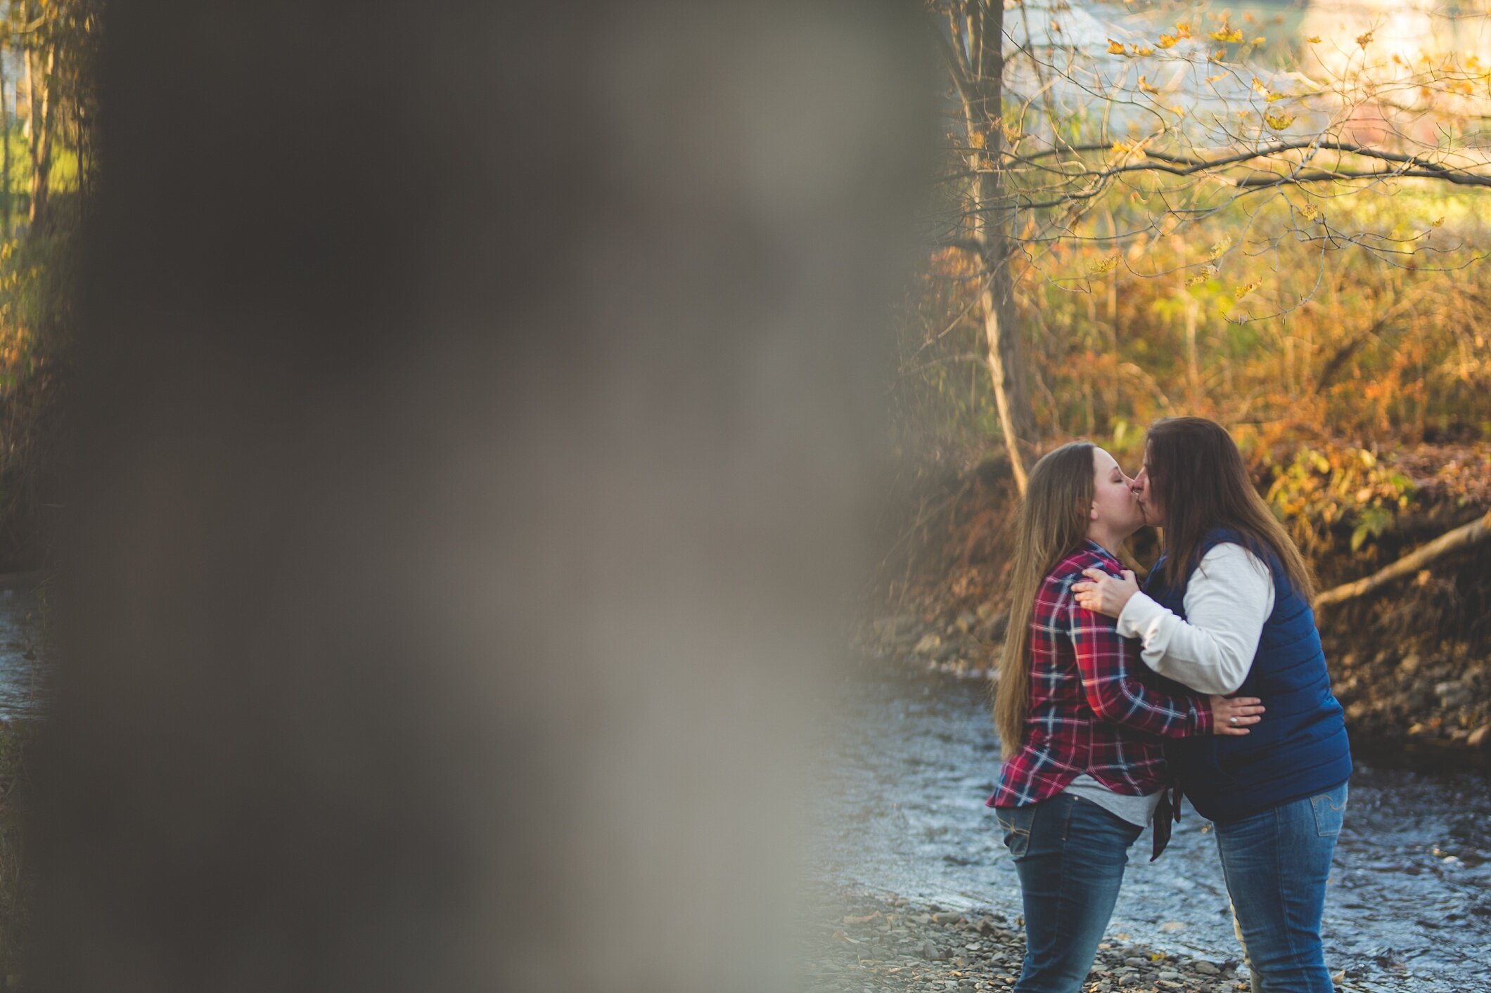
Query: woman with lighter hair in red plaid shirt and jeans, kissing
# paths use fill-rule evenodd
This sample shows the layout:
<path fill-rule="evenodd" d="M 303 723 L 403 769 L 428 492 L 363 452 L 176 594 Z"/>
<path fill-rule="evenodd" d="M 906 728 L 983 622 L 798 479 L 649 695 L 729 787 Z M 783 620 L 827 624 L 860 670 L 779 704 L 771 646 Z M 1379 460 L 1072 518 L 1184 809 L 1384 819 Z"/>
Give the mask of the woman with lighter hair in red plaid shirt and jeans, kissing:
<path fill-rule="evenodd" d="M 1118 573 L 1115 549 L 1144 526 L 1132 487 L 1112 456 L 1072 442 L 1035 464 L 1020 509 L 989 799 L 1024 901 L 1017 993 L 1081 989 L 1167 783 L 1161 741 L 1248 734 L 1263 710 L 1156 676 L 1112 618 L 1077 604 L 1082 570 Z"/>

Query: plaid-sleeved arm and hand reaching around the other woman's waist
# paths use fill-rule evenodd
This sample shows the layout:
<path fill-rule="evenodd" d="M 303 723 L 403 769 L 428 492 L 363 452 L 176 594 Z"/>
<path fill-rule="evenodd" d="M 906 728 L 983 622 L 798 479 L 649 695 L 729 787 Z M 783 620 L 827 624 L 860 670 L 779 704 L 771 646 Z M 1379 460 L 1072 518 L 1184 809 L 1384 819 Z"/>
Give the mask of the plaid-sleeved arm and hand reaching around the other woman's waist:
<path fill-rule="evenodd" d="M 1258 700 L 1205 700 L 1160 692 L 1133 674 L 1133 649 L 1114 622 L 1075 600 L 1068 601 L 1068 634 L 1077 654 L 1087 704 L 1103 721 L 1179 738 L 1200 734 L 1246 734 L 1263 707 Z"/>

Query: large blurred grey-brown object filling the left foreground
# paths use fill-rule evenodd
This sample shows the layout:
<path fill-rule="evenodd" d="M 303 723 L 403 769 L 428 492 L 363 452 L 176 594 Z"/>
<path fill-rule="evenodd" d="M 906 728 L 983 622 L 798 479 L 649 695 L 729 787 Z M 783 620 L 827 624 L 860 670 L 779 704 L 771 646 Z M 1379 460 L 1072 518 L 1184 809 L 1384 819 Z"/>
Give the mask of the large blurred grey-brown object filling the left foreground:
<path fill-rule="evenodd" d="M 27 987 L 783 989 L 927 46 L 110 10 Z"/>

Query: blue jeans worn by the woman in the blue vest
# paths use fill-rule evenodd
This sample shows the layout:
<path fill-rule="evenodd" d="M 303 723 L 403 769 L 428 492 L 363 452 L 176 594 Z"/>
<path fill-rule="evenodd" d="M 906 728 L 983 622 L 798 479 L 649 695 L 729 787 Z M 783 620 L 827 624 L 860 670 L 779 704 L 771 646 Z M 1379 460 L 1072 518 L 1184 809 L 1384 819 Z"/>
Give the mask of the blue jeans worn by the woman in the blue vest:
<path fill-rule="evenodd" d="M 1331 993 L 1320 944 L 1346 785 L 1217 825 L 1238 933 L 1263 993 Z"/>

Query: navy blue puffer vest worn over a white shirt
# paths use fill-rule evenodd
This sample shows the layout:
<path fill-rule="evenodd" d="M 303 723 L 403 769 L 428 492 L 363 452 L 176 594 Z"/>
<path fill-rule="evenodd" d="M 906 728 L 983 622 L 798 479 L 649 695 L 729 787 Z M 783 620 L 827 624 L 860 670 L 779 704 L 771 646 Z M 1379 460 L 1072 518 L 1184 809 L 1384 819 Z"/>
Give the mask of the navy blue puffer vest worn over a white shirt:
<path fill-rule="evenodd" d="M 1242 543 L 1236 531 L 1217 529 L 1202 540 L 1202 555 L 1223 542 Z M 1145 593 L 1184 618 L 1190 576 L 1175 587 L 1163 584 L 1163 561 L 1156 563 Z M 1264 561 L 1273 575 L 1273 612 L 1263 622 L 1252 668 L 1238 689 L 1239 697 L 1263 700 L 1263 719 L 1241 737 L 1166 743 L 1181 789 L 1211 820 L 1236 820 L 1314 796 L 1351 776 L 1346 725 L 1330 692 L 1315 612 L 1278 560 L 1267 554 Z"/>

